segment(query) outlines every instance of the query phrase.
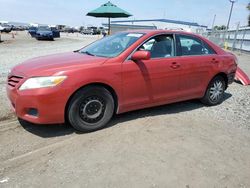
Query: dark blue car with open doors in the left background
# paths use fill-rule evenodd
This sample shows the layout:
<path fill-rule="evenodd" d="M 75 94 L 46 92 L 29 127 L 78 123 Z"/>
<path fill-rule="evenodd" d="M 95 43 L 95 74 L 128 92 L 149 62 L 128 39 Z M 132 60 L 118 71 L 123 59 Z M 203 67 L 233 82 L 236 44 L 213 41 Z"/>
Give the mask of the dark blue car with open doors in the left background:
<path fill-rule="evenodd" d="M 54 38 L 60 37 L 60 32 L 56 28 L 48 26 L 39 26 L 36 30 L 34 37 L 37 40 L 54 40 Z"/>

